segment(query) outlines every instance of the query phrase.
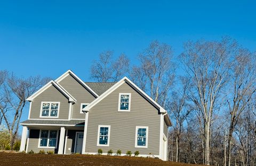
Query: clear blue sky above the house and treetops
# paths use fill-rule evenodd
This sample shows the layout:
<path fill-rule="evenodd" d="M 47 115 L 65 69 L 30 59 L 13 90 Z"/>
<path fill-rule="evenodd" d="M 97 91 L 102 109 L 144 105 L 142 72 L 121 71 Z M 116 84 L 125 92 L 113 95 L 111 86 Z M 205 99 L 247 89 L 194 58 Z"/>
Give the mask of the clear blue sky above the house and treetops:
<path fill-rule="evenodd" d="M 90 81 L 105 50 L 132 63 L 150 41 L 173 46 L 228 35 L 256 48 L 255 1 L 1 1 L 0 69 L 57 78 L 72 69 Z M 27 118 L 24 113 L 22 119 Z"/>

